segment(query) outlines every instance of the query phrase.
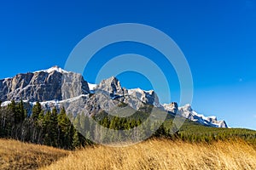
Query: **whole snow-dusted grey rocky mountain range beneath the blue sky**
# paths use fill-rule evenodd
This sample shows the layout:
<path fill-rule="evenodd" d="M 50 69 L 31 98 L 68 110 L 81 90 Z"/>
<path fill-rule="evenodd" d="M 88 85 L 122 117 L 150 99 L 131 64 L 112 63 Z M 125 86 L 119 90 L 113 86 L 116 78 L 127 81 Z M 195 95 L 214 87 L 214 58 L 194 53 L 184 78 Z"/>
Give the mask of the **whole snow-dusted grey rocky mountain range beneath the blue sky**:
<path fill-rule="evenodd" d="M 64 71 L 58 66 L 0 80 L 0 100 L 3 101 L 3 106 L 8 105 L 10 100 L 20 99 L 31 105 L 39 101 L 45 110 L 53 106 L 64 106 L 67 113 L 76 115 L 83 112 L 89 116 L 102 111 L 109 114 L 120 111 L 120 105 L 128 105 L 131 112 L 152 105 L 172 115 L 179 114 L 203 125 L 227 127 L 224 121 L 217 121 L 215 116 L 197 114 L 190 105 L 178 107 L 174 102 L 160 105 L 154 90 L 122 88 L 116 77 L 102 80 L 99 84 L 90 84 L 80 74 Z"/>

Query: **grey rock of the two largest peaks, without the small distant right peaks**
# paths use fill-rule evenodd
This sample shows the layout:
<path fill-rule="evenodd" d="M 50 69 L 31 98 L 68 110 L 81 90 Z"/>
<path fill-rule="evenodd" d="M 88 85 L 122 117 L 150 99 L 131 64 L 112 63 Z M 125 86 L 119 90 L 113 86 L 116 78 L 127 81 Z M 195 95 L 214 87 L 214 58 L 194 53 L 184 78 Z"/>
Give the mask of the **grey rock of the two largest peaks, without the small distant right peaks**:
<path fill-rule="evenodd" d="M 121 87 L 117 78 L 110 77 L 96 85 L 93 90 L 95 95 L 72 100 L 72 106 L 68 99 L 90 94 L 90 89 L 81 75 L 63 71 L 59 67 L 1 80 L 0 89 L 3 101 L 22 98 L 30 102 L 39 101 L 47 110 L 52 106 L 64 106 L 67 111 L 84 111 L 89 115 L 98 111 L 112 111 L 120 102 L 130 105 L 135 110 L 145 105 L 160 105 L 153 90 L 127 90 Z"/>

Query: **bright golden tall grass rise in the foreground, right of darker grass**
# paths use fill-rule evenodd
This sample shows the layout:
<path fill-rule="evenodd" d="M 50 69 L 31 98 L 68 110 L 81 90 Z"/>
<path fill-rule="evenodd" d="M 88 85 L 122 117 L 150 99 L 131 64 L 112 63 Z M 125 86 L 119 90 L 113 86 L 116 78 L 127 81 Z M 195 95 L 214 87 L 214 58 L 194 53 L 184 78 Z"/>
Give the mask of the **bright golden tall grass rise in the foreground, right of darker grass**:
<path fill-rule="evenodd" d="M 122 148 L 76 150 L 42 168 L 59 169 L 256 169 L 256 150 L 242 141 L 189 144 L 152 139 Z"/>

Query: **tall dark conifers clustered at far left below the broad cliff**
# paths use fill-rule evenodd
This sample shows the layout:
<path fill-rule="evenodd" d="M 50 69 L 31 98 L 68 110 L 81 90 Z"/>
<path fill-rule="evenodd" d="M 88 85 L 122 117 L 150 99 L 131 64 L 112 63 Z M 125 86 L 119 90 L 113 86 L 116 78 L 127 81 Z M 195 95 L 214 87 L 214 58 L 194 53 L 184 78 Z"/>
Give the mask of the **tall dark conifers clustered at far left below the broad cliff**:
<path fill-rule="evenodd" d="M 45 112 L 37 102 L 32 107 L 32 115 L 28 115 L 22 100 L 18 104 L 12 101 L 7 107 L 0 108 L 0 137 L 67 150 L 85 142 L 73 127 L 64 108 L 60 113 L 56 108 Z"/>

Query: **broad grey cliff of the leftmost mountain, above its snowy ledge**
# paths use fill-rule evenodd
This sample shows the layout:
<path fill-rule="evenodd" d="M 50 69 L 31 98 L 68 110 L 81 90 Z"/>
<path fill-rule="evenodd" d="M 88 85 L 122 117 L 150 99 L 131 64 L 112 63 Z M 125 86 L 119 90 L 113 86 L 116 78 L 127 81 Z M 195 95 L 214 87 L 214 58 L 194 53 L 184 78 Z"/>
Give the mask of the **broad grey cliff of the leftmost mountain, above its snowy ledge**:
<path fill-rule="evenodd" d="M 48 101 L 89 94 L 87 82 L 73 72 L 38 71 L 0 81 L 0 100 Z"/>

